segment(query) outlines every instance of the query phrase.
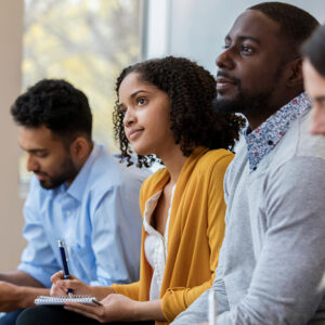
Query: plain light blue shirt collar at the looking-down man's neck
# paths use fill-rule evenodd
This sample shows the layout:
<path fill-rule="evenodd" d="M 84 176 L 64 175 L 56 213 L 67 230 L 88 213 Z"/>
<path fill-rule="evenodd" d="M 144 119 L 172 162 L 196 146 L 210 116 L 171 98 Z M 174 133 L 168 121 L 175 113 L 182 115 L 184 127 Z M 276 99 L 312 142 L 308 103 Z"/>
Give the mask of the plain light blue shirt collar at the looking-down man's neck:
<path fill-rule="evenodd" d="M 66 193 L 76 198 L 77 200 L 82 200 L 83 191 L 86 188 L 86 183 L 90 174 L 90 169 L 93 164 L 93 161 L 96 159 L 101 152 L 101 147 L 93 144 L 92 152 L 90 156 L 88 157 L 87 161 L 83 164 L 82 168 L 79 170 L 78 174 L 76 176 L 75 180 L 70 184 L 69 187 L 67 187 Z M 66 184 L 64 184 L 66 187 Z"/>

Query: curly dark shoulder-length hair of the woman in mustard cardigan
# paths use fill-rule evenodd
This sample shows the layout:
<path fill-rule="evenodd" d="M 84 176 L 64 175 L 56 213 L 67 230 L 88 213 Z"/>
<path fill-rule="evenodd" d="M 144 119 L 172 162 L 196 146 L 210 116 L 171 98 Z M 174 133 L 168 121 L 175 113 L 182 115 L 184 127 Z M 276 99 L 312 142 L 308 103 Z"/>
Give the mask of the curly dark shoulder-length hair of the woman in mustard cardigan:
<path fill-rule="evenodd" d="M 131 73 L 140 80 L 165 91 L 170 99 L 171 132 L 185 157 L 199 145 L 233 150 L 245 120 L 234 114 L 218 114 L 212 107 L 217 95 L 216 80 L 204 67 L 184 57 L 148 60 L 125 68 L 116 81 L 116 94 Z M 114 134 L 119 141 L 121 160 L 132 165 L 129 141 L 123 129 L 123 113 L 118 100 L 113 113 Z M 138 156 L 138 167 L 150 167 L 157 158 Z M 161 162 L 161 161 L 160 161 Z"/>

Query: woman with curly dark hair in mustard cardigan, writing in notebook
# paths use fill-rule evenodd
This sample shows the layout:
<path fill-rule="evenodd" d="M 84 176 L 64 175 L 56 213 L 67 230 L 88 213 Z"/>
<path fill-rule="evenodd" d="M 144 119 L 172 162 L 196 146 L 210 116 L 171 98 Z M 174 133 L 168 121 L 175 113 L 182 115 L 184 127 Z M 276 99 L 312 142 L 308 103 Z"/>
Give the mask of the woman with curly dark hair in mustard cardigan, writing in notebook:
<path fill-rule="evenodd" d="M 214 78 L 182 57 L 129 66 L 117 79 L 116 93 L 121 160 L 132 164 L 134 151 L 140 167 L 157 159 L 165 165 L 141 188 L 140 281 L 90 287 L 75 277 L 63 281 L 58 272 L 52 277 L 53 295 L 72 288 L 102 306 L 66 303 L 66 310 L 81 315 L 62 310 L 57 321 L 43 313 L 49 322 L 41 324 L 170 323 L 213 281 L 224 235 L 223 176 L 243 119 L 213 110 Z M 30 318 L 37 324 L 35 314 Z"/>

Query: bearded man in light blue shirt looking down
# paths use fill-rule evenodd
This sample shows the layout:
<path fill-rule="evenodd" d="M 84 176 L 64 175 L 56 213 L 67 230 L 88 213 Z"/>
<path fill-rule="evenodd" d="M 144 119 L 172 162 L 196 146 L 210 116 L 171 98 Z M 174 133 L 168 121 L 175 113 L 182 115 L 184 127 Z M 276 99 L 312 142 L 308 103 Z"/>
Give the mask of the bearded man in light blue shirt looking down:
<path fill-rule="evenodd" d="M 0 273 L 0 311 L 34 306 L 62 269 L 91 285 L 139 278 L 142 219 L 140 187 L 147 176 L 120 165 L 91 138 L 87 96 L 64 80 L 41 80 L 11 108 L 20 145 L 35 173 L 24 206 L 27 247 L 17 271 Z M 47 289 L 46 289 L 47 288 Z M 0 324 L 14 324 L 18 312 Z"/>

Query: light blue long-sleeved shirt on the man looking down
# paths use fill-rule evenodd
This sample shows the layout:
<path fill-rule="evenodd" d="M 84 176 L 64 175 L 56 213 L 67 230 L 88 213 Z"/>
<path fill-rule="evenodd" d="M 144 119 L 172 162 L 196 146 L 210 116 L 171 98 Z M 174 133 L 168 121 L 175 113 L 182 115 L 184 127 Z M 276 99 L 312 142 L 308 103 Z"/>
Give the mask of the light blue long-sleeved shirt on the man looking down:
<path fill-rule="evenodd" d="M 57 239 L 63 239 L 69 272 L 82 282 L 136 281 L 142 226 L 139 194 L 147 176 L 94 145 L 69 187 L 44 190 L 34 178 L 24 206 L 28 245 L 18 270 L 51 286 L 51 275 L 62 270 Z"/>

